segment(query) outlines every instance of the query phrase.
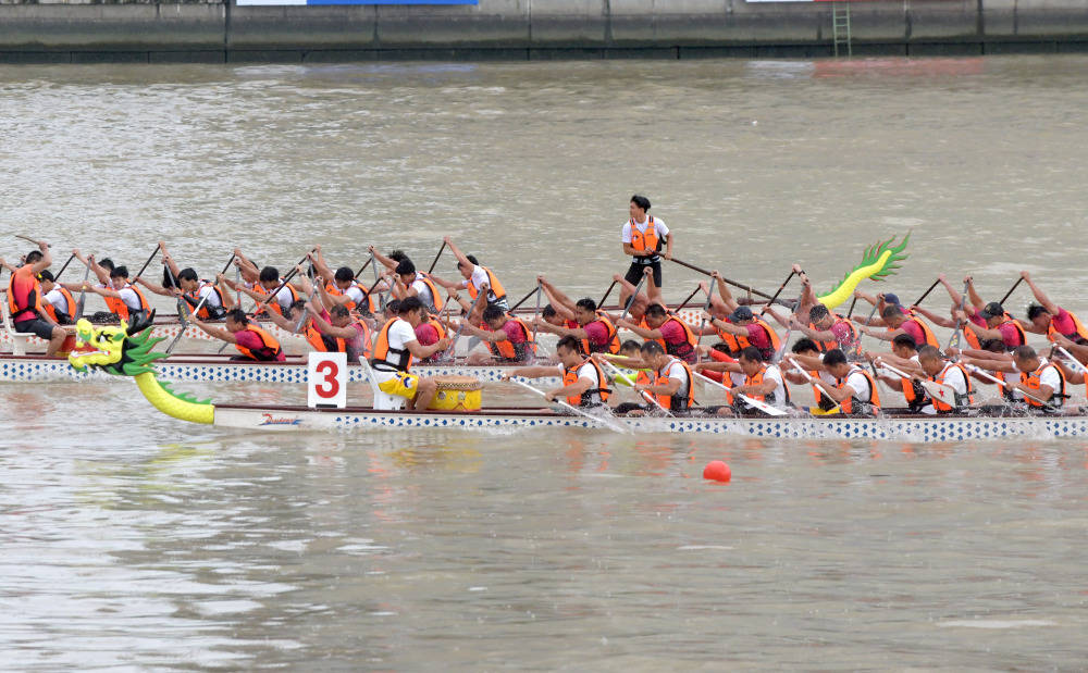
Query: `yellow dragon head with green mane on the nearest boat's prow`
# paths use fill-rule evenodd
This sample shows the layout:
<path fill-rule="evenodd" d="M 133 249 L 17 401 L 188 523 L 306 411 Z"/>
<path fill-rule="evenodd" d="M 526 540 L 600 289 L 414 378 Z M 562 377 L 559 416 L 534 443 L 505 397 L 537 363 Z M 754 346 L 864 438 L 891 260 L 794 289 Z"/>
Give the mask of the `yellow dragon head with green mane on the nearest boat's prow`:
<path fill-rule="evenodd" d="M 151 337 L 154 311 L 131 326 L 122 321 L 120 327 L 95 326 L 86 320 L 75 324 L 76 344 L 69 354 L 69 362 L 83 371 L 95 367 L 115 376 L 137 376 L 153 373 L 156 360 L 165 353 L 153 353 L 162 337 Z"/>

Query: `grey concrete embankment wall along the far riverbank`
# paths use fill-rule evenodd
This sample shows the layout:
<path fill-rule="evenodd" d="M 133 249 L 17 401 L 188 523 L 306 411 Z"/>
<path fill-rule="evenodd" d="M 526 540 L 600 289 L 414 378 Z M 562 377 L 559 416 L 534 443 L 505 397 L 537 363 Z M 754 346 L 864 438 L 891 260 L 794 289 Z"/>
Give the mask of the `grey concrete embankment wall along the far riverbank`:
<path fill-rule="evenodd" d="M 1088 51 L 1088 2 L 854 2 L 851 27 L 855 55 Z M 0 62 L 826 57 L 831 36 L 830 2 L 0 4 Z"/>

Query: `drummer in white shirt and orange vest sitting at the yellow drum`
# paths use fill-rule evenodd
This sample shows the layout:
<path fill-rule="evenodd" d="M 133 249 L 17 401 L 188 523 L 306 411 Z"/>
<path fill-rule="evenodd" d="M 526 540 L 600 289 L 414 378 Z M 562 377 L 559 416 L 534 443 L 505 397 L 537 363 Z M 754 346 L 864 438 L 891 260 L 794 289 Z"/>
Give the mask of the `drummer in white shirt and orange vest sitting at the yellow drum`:
<path fill-rule="evenodd" d="M 406 404 L 409 410 L 422 411 L 431 406 L 438 384 L 432 377 L 409 373 L 411 360 L 446 350 L 449 339 L 422 346 L 416 339 L 416 326 L 422 320 L 423 302 L 419 297 L 408 297 L 398 302 L 397 316 L 386 322 L 374 337 L 370 360 L 378 385 L 374 409 L 392 410 Z"/>

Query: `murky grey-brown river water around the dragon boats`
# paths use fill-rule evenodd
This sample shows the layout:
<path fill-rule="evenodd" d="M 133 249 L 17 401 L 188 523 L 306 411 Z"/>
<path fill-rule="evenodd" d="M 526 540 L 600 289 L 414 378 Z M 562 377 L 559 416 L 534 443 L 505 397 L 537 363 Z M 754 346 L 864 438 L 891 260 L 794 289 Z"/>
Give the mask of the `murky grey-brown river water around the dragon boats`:
<path fill-rule="evenodd" d="M 281 266 L 309 242 L 334 265 L 370 244 L 423 265 L 449 234 L 511 296 L 542 272 L 596 296 L 625 269 L 641 192 L 677 257 L 767 291 L 792 262 L 831 289 L 867 245 L 912 232 L 885 284 L 905 301 L 939 272 L 997 299 L 1027 269 L 1088 311 L 1084 57 L 2 66 L 0 119 L 8 259 L 28 234 L 131 269 L 160 238 L 205 274 L 236 245 Z M 448 254 L 436 271 L 455 273 Z M 696 281 L 669 265 L 666 296 Z M 0 385 L 0 669 L 1088 655 L 1078 440 L 273 437 L 89 381 Z M 709 460 L 732 483 L 703 481 Z"/>

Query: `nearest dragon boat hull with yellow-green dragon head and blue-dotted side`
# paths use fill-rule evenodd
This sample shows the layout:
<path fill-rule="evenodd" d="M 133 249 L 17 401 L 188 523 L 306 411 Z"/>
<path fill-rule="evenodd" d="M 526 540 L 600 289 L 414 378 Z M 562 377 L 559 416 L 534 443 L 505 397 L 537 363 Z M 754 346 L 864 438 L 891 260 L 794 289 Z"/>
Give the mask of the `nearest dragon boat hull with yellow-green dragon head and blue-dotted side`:
<path fill-rule="evenodd" d="M 1088 436 L 1088 415 L 918 416 L 889 410 L 878 417 L 614 417 L 565 415 L 535 408 L 499 408 L 481 411 L 379 411 L 364 407 L 321 409 L 298 406 L 219 404 L 174 392 L 160 382 L 154 352 L 161 339 L 147 325 L 96 327 L 78 324 L 76 350 L 69 356 L 78 370 L 96 369 L 136 381 L 144 396 L 159 411 L 191 423 L 244 431 L 307 432 L 351 428 L 603 428 L 630 432 L 709 433 L 780 439 L 865 439 L 910 443 L 985 439 L 1052 439 Z"/>

